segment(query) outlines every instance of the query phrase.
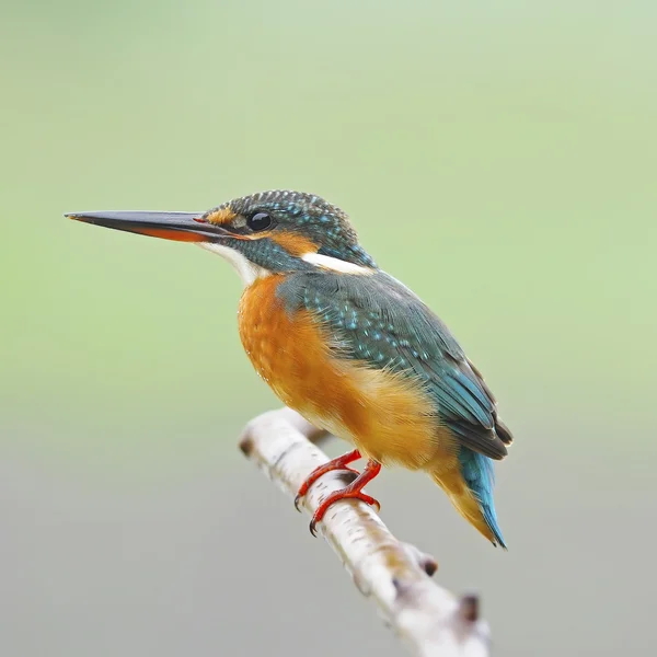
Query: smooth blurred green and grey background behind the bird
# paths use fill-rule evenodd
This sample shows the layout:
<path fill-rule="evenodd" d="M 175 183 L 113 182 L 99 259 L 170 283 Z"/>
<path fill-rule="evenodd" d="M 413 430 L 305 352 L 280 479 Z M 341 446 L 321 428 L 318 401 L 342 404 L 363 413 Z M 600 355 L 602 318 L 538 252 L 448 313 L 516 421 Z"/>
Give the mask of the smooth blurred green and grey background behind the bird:
<path fill-rule="evenodd" d="M 2 3 L 0 653 L 399 654 L 235 449 L 277 401 L 234 273 L 62 218 L 278 187 L 351 215 L 517 437 L 508 554 L 404 472 L 371 487 L 392 530 L 482 592 L 499 655 L 647 652 L 656 21 L 641 0 Z"/>

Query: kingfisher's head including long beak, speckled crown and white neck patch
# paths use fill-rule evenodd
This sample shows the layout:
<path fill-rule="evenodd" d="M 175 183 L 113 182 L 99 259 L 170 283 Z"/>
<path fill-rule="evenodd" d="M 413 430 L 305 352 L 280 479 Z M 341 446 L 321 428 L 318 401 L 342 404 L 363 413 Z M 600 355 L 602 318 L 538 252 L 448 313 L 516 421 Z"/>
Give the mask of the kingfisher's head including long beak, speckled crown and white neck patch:
<path fill-rule="evenodd" d="M 71 219 L 116 230 L 195 242 L 228 260 L 245 285 L 296 270 L 369 273 L 372 258 L 339 208 L 301 192 L 262 192 L 207 212 L 77 212 Z"/>

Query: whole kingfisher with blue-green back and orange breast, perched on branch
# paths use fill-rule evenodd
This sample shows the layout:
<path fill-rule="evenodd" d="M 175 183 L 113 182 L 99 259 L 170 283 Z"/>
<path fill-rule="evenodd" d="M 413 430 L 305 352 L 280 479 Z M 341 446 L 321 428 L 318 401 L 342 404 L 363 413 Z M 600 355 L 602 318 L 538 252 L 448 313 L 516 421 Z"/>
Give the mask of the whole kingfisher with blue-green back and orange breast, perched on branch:
<path fill-rule="evenodd" d="M 318 468 L 355 479 L 326 509 L 362 492 L 382 465 L 422 470 L 494 545 L 506 549 L 493 503 L 493 460 L 512 436 L 482 374 L 442 321 L 358 243 L 347 215 L 319 196 L 262 192 L 206 212 L 107 211 L 71 219 L 194 242 L 231 263 L 244 284 L 238 321 L 253 367 L 310 423 L 350 442 Z M 361 473 L 349 468 L 367 459 Z"/>

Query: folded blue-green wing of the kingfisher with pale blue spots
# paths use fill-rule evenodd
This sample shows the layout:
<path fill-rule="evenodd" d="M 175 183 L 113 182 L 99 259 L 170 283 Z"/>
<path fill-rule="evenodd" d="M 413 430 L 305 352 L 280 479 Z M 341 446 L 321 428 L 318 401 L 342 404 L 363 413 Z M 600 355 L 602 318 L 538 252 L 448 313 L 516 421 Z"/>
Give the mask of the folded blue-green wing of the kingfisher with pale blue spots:
<path fill-rule="evenodd" d="M 419 378 L 436 413 L 469 449 L 506 456 L 510 431 L 495 397 L 440 319 L 408 288 L 372 275 L 299 273 L 278 288 L 289 311 L 311 311 L 335 336 L 342 357 Z"/>

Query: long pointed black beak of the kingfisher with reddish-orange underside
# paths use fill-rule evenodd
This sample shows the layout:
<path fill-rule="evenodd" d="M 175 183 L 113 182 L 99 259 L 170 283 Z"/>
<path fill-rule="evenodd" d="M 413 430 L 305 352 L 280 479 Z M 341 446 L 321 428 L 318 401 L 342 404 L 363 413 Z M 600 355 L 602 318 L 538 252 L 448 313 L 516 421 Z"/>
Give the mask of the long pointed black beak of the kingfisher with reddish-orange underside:
<path fill-rule="evenodd" d="M 95 223 L 115 230 L 175 240 L 177 242 L 218 242 L 228 233 L 203 219 L 204 212 L 71 212 L 76 221 Z"/>

